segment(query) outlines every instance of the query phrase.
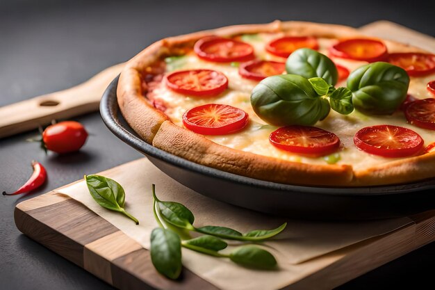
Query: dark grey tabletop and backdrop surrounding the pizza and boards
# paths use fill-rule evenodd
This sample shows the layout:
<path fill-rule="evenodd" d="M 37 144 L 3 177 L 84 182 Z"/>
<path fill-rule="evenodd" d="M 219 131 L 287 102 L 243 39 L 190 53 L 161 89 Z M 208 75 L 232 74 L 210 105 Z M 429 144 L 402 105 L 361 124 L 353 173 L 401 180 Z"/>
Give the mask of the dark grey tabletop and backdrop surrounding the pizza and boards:
<path fill-rule="evenodd" d="M 359 27 L 387 19 L 435 35 L 435 1 L 60 1 L 0 2 L 0 106 L 69 88 L 128 60 L 160 38 L 230 24 L 307 20 Z M 1 116 L 0 116 L 1 118 Z M 20 234 L 15 204 L 83 174 L 141 155 L 117 140 L 98 113 L 76 118 L 92 134 L 81 152 L 47 156 L 24 140 L 36 131 L 0 140 L 0 191 L 31 175 L 30 162 L 47 168 L 48 182 L 19 197 L 0 196 L 1 289 L 111 289 L 108 284 Z M 389 289 L 434 283 L 435 243 L 386 264 L 339 289 Z M 432 287 L 431 287 L 432 286 Z M 411 287 L 411 286 L 409 286 Z"/>

